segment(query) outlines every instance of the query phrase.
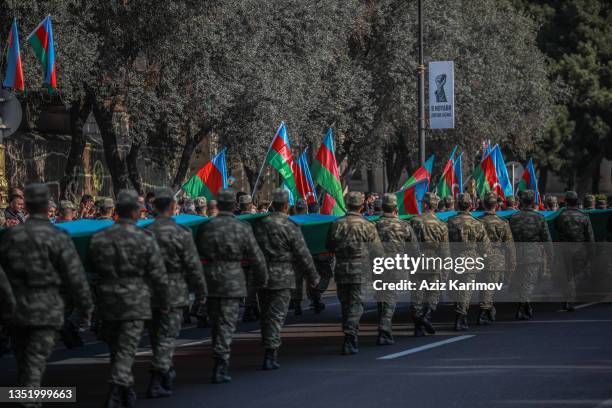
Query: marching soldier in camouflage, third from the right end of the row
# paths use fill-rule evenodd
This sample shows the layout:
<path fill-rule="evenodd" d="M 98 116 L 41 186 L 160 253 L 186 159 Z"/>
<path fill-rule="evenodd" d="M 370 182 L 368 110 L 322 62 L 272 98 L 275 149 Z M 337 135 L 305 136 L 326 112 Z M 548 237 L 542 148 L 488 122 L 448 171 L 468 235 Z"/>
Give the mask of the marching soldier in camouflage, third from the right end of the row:
<path fill-rule="evenodd" d="M 516 268 L 516 249 L 508 221 L 499 217 L 496 212 L 499 208 L 497 194 L 490 191 L 484 198 L 485 214 L 480 218 L 487 230 L 491 241 L 491 252 L 487 259 L 487 282 L 498 283 L 504 279 L 509 281 Z M 493 304 L 493 290 L 484 290 L 481 294 L 480 313 L 478 324 L 490 324 L 495 321 L 495 306 Z"/>

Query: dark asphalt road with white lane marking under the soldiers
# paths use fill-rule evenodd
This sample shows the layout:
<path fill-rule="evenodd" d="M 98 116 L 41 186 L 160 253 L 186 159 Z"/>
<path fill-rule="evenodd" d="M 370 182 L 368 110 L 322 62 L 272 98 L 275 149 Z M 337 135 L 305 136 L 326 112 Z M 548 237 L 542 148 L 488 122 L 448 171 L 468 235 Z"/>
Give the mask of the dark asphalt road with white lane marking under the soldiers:
<path fill-rule="evenodd" d="M 366 307 L 360 352 L 339 354 L 342 333 L 335 298 L 320 315 L 305 311 L 287 321 L 281 369 L 261 371 L 258 324 L 241 324 L 229 384 L 209 383 L 207 329 L 186 328 L 178 347 L 175 395 L 147 400 L 150 352 L 143 339 L 135 365 L 139 407 L 612 407 L 612 304 L 581 305 L 574 313 L 556 304 L 535 305 L 535 319 L 516 322 L 513 305 L 498 305 L 493 326 L 452 331 L 452 310 L 441 305 L 438 333 L 412 336 L 407 305 L 395 318 L 396 344 L 376 346 L 376 312 Z M 475 308 L 474 308 L 475 309 Z M 471 316 L 473 323 L 475 315 Z M 106 346 L 58 347 L 47 386 L 76 386 L 78 403 L 101 407 L 109 373 Z M 0 358 L 0 385 L 15 378 L 12 356 Z"/>

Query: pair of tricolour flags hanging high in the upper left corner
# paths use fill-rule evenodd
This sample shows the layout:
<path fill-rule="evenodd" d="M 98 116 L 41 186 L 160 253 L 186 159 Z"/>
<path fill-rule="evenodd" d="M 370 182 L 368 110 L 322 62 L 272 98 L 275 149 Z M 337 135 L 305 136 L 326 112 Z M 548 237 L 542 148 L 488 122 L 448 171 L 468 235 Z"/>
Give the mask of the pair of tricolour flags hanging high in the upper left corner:
<path fill-rule="evenodd" d="M 28 35 L 28 43 L 32 46 L 36 58 L 40 61 L 44 74 L 44 84 L 50 89 L 57 88 L 57 76 L 55 73 L 55 46 L 53 43 L 53 28 L 51 16 L 45 17 L 43 21 Z M 6 53 L 6 74 L 2 81 L 4 88 L 15 91 L 25 89 L 23 68 L 21 62 L 21 51 L 19 48 L 19 30 L 17 19 L 13 20 L 8 37 Z"/>

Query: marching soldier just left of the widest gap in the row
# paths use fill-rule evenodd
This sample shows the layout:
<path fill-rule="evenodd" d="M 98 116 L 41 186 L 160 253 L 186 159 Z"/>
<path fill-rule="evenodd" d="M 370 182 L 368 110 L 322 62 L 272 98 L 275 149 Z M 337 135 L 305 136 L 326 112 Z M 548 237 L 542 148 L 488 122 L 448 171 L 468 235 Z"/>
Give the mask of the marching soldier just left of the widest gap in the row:
<path fill-rule="evenodd" d="M 261 304 L 261 336 L 265 348 L 264 370 L 280 368 L 278 348 L 280 331 L 287 316 L 291 289 L 296 286 L 296 271 L 300 270 L 310 286 L 319 283 L 317 273 L 300 228 L 289 220 L 289 193 L 277 188 L 272 193 L 272 214 L 259 221 L 255 237 L 266 258 L 268 283 L 258 291 Z"/>

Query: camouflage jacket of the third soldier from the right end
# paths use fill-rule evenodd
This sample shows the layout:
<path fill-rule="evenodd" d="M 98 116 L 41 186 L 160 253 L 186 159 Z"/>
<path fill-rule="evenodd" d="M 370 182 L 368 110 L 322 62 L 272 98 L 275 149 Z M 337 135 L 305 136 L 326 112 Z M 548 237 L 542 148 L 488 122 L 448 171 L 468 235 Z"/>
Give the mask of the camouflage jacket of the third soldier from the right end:
<path fill-rule="evenodd" d="M 487 268 L 490 270 L 512 273 L 516 268 L 516 248 L 510 224 L 495 213 L 485 212 L 480 221 L 487 230 L 491 241 L 491 252 L 487 259 Z"/>

